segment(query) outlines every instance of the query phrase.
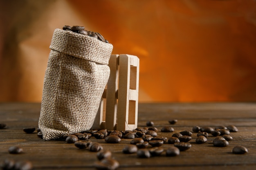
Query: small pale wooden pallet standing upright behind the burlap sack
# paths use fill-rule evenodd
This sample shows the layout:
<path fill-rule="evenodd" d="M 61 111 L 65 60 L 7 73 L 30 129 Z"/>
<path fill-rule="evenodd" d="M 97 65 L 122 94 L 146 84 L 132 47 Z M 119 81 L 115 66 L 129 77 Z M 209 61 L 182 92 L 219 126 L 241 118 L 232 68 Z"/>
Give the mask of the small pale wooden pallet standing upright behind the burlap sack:
<path fill-rule="evenodd" d="M 92 129 L 133 130 L 138 121 L 139 58 L 112 54 L 110 77 Z"/>

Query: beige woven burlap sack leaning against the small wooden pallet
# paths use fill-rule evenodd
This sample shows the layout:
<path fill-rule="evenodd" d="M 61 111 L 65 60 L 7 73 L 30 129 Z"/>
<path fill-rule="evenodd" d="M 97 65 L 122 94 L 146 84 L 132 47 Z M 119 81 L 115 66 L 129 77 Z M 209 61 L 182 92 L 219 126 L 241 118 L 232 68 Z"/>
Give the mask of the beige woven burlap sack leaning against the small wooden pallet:
<path fill-rule="evenodd" d="M 45 140 L 92 127 L 110 75 L 113 46 L 56 29 L 50 49 L 38 122 Z"/>

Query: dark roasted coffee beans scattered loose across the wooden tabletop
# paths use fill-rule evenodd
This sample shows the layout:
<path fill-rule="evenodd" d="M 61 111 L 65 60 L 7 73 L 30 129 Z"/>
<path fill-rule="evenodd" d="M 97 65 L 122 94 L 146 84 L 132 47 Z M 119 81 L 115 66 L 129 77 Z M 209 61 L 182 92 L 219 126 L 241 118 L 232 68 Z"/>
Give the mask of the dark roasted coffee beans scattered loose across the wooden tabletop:
<path fill-rule="evenodd" d="M 170 120 L 168 122 L 175 124 L 177 120 Z M 23 129 L 25 133 L 33 133 L 35 130 L 35 128 Z M 120 143 L 122 139 L 130 139 L 130 144 L 124 146 L 120 151 L 123 154 L 136 153 L 138 158 L 150 158 L 160 155 L 174 157 L 180 155 L 180 152 L 189 150 L 192 147 L 193 143 L 191 144 L 190 142 L 193 133 L 197 133 L 197 137 L 195 138 L 195 143 L 197 144 L 207 143 L 208 137 L 215 137 L 214 139 L 211 138 L 213 146 L 227 147 L 229 146 L 229 142 L 233 140 L 230 134 L 237 131 L 238 129 L 234 125 L 216 126 L 214 128 L 209 126 L 194 126 L 191 131 L 179 131 L 178 133 L 174 133 L 174 129 L 171 126 L 164 126 L 158 130 L 154 127 L 154 122 L 148 121 L 145 127 L 137 128 L 132 131 L 92 129 L 72 135 L 64 135 L 60 140 L 65 141 L 67 144 L 74 144 L 74 146 L 79 149 L 97 153 L 98 160 L 94 163 L 95 168 L 115 170 L 119 167 L 119 162 L 112 158 L 110 150 L 104 149 L 100 143 L 95 142 L 95 139 L 105 139 L 106 143 Z M 166 134 L 168 137 L 158 135 L 158 132 Z M 37 129 L 37 136 L 43 139 L 43 134 L 40 129 Z M 93 140 L 90 140 L 90 138 Z M 165 147 L 161 147 L 163 145 L 165 145 Z M 232 150 L 234 154 L 245 154 L 247 152 L 248 150 L 244 146 L 235 146 Z M 23 153 L 23 150 L 20 147 L 11 146 L 9 153 L 19 154 Z M 5 160 L 3 166 L 10 166 L 10 163 L 12 163 L 12 161 Z M 23 164 L 27 164 L 27 170 L 32 167 L 29 162 L 24 162 Z"/>

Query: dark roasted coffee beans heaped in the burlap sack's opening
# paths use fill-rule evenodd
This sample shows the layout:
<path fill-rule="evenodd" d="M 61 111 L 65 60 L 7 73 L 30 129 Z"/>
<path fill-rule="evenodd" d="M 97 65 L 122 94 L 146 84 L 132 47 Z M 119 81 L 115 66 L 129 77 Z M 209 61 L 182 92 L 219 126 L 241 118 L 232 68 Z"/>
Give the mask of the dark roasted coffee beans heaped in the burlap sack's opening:
<path fill-rule="evenodd" d="M 93 31 L 87 31 L 84 29 L 84 26 L 72 26 L 71 27 L 71 26 L 65 25 L 65 26 L 63 26 L 62 29 L 65 31 L 72 31 L 74 33 L 79 33 L 82 35 L 88 35 L 90 37 L 97 38 L 100 41 L 109 43 L 108 40 L 104 39 L 104 37 L 100 33 L 94 33 Z"/>

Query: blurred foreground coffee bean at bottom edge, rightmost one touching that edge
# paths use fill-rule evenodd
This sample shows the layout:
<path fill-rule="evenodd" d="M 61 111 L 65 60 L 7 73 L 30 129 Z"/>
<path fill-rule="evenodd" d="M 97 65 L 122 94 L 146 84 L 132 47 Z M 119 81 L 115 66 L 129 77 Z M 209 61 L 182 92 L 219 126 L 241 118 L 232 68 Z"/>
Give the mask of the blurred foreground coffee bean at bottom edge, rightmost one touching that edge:
<path fill-rule="evenodd" d="M 119 162 L 112 158 L 101 159 L 94 163 L 97 170 L 116 170 L 119 167 Z"/>

